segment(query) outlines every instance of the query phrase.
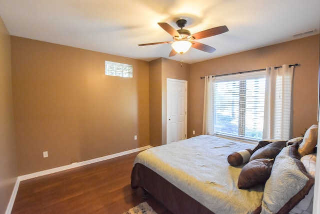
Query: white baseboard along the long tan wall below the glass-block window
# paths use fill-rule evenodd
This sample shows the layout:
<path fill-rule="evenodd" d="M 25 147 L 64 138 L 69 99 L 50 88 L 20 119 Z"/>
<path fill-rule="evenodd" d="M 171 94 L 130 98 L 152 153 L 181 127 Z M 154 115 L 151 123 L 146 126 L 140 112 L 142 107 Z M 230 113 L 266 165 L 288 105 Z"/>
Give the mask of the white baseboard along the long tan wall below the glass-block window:
<path fill-rule="evenodd" d="M 42 175 L 47 175 L 47 174 L 51 174 L 51 173 L 55 173 L 55 172 L 59 172 L 59 171 L 63 171 L 63 170 L 67 170 L 67 169 L 72 169 L 72 168 L 76 168 L 79 166 L 84 166 L 90 163 L 96 163 L 99 161 L 103 161 L 103 160 L 108 160 L 114 157 L 119 157 L 122 155 L 126 155 L 126 154 L 130 154 L 133 152 L 138 152 L 138 151 L 142 151 L 148 148 L 151 148 L 152 146 L 144 146 L 144 147 L 140 147 L 140 148 L 136 148 L 136 149 L 131 149 L 128 151 L 123 151 L 123 152 L 119 152 L 119 153 L 115 153 L 115 154 L 111 154 L 111 155 L 106 155 L 103 157 L 98 157 L 98 158 L 94 158 L 91 160 L 86 160 L 86 161 L 82 161 L 82 162 L 76 162 L 76 163 L 71 163 L 69 165 L 65 165 L 65 166 L 60 166 L 60 167 L 56 167 L 56 168 L 52 168 L 52 169 L 47 169 L 47 170 L 43 170 L 43 171 L 39 171 L 39 172 L 34 172 L 34 173 L 30 173 L 30 174 L 26 174 L 26 175 L 21 175 L 18 176 L 19 181 L 22 180 L 27 180 L 27 179 L 31 179 L 34 177 L 39 177 Z"/>

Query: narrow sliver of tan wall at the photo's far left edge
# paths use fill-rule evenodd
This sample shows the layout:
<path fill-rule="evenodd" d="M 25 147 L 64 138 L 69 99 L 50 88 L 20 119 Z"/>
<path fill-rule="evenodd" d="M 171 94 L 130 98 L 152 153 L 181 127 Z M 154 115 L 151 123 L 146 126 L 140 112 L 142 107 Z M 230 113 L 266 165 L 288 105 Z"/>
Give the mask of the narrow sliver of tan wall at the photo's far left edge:
<path fill-rule="evenodd" d="M 17 178 L 13 128 L 10 36 L 0 18 L 0 213 Z"/>

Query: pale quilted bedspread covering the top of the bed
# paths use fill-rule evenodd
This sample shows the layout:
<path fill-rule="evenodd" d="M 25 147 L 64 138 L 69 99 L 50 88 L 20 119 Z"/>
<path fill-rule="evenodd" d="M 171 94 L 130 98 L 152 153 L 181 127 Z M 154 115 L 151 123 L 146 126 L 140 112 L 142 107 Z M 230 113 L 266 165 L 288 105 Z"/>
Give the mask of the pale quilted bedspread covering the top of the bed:
<path fill-rule="evenodd" d="M 209 135 L 162 145 L 140 152 L 141 163 L 190 195 L 214 213 L 252 213 L 261 203 L 263 185 L 238 189 L 241 171 L 227 156 L 254 145 Z"/>

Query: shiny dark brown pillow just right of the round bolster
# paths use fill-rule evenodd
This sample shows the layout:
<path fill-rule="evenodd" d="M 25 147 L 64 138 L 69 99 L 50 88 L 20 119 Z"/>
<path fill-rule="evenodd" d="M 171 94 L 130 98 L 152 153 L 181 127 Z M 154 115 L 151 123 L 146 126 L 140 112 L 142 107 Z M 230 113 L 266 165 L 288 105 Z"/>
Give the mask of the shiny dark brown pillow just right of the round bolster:
<path fill-rule="evenodd" d="M 285 147 L 286 141 L 276 141 L 259 148 L 251 155 L 249 161 L 260 158 L 275 158 L 275 156 Z"/>

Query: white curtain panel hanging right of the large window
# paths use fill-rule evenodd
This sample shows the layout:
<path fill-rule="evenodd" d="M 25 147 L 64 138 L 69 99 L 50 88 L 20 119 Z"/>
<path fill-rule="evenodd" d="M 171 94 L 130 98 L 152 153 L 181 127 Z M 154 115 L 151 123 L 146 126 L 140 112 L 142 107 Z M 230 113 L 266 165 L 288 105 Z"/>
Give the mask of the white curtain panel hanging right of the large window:
<path fill-rule="evenodd" d="M 294 66 L 266 68 L 263 139 L 289 140 Z"/>

